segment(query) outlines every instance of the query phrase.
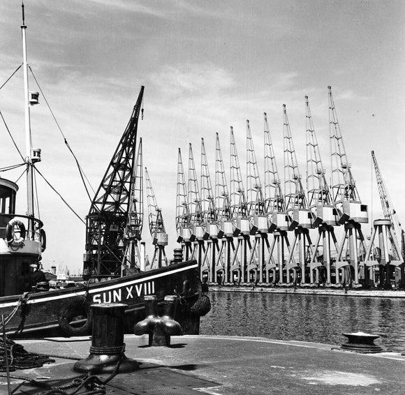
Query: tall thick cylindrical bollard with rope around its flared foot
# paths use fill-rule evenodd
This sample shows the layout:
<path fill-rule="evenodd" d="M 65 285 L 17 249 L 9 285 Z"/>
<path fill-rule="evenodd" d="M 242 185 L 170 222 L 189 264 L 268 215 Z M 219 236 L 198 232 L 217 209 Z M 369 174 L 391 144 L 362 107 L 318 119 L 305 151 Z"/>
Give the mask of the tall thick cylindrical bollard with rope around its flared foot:
<path fill-rule="evenodd" d="M 139 362 L 124 355 L 124 315 L 126 304 L 92 304 L 93 331 L 90 355 L 76 362 L 78 372 L 111 373 L 119 364 L 119 373 L 135 371 Z"/>

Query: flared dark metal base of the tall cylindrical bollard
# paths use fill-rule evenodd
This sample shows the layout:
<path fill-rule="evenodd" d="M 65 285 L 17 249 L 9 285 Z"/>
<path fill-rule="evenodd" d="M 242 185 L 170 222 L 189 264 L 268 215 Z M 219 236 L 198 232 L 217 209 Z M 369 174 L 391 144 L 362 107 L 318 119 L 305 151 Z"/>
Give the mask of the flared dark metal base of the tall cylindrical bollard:
<path fill-rule="evenodd" d="M 115 371 L 121 355 L 94 355 L 81 359 L 73 366 L 73 370 L 82 373 L 112 373 Z M 138 370 L 140 362 L 122 356 L 118 373 L 129 373 Z"/>

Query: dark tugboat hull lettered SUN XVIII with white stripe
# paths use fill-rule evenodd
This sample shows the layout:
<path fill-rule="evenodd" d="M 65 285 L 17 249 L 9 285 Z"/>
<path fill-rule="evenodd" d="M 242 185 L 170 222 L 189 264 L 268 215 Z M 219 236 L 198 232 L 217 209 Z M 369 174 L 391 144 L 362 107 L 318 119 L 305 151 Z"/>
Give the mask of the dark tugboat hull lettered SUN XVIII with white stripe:
<path fill-rule="evenodd" d="M 67 306 L 80 301 L 89 310 L 91 304 L 124 303 L 128 305 L 125 331 L 133 333 L 133 325 L 145 318 L 145 295 L 156 295 L 159 308 L 166 295 L 179 295 L 175 320 L 182 325 L 184 334 L 198 334 L 200 319 L 191 314 L 190 308 L 200 292 L 198 264 L 189 261 L 88 286 L 1 297 L 0 314 L 6 321 L 6 333 L 13 338 L 73 336 L 78 333 L 66 331 L 61 325 Z M 84 327 L 80 335 L 90 333 L 91 329 Z"/>

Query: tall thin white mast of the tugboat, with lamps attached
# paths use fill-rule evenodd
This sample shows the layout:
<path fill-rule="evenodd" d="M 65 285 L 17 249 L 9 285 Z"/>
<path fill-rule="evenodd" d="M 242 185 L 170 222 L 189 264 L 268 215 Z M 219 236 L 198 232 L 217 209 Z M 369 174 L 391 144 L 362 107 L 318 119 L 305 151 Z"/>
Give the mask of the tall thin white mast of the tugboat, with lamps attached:
<path fill-rule="evenodd" d="M 27 156 L 27 216 L 34 218 L 34 182 L 32 174 L 32 156 L 31 156 L 31 121 L 29 114 L 29 87 L 28 87 L 28 63 L 27 63 L 27 40 L 25 31 L 24 3 L 22 3 L 22 70 L 24 72 L 24 110 L 25 110 L 25 148 Z M 29 230 L 32 230 L 32 221 L 29 220 Z"/>

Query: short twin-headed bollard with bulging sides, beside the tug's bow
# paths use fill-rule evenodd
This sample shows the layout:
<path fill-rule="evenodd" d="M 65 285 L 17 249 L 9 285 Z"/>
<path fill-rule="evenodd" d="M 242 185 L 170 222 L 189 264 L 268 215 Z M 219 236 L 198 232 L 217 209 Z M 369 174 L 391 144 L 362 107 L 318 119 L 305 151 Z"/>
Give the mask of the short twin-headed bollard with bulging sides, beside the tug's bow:
<path fill-rule="evenodd" d="M 135 324 L 133 331 L 135 335 L 149 335 L 149 346 L 170 345 L 170 336 L 182 334 L 182 327 L 174 320 L 177 296 L 165 296 L 163 315 L 159 317 L 157 313 L 156 295 L 145 296 L 146 318 Z"/>

